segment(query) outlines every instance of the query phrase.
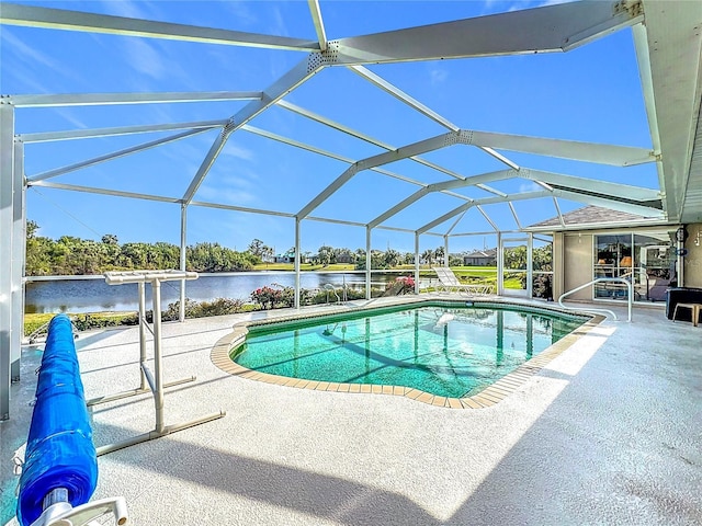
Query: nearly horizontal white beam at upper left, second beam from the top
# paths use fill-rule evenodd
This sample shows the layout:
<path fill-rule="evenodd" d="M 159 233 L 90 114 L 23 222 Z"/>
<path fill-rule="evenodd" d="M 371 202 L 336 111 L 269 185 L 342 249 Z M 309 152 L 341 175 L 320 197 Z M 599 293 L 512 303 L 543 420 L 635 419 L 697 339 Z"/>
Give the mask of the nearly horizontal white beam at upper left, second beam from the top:
<path fill-rule="evenodd" d="M 166 104 L 174 102 L 260 101 L 261 91 L 212 91 L 169 93 L 75 93 L 12 95 L 15 107 L 113 106 L 120 104 Z"/>

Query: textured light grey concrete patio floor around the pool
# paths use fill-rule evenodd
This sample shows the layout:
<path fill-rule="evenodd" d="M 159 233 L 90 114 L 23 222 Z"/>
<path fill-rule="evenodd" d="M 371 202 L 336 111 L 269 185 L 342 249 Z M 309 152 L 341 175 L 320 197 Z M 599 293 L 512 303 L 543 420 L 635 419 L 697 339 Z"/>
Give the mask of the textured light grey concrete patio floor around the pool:
<path fill-rule="evenodd" d="M 497 405 L 450 410 L 228 376 L 210 352 L 235 319 L 163 325 L 166 379 L 197 376 L 169 390 L 167 423 L 227 415 L 100 457 L 93 499 L 125 496 L 129 524 L 702 524 L 702 327 L 636 309 Z M 136 387 L 136 329 L 77 342 L 87 397 Z M 32 377 L 0 427 L 3 490 Z M 92 416 L 97 445 L 154 427 L 146 396 Z"/>

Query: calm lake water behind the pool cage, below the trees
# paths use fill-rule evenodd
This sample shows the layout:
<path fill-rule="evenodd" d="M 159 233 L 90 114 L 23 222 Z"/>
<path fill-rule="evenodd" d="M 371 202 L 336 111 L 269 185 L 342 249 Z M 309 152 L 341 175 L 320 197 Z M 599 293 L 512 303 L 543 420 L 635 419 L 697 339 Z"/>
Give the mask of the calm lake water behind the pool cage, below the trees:
<path fill-rule="evenodd" d="M 398 275 L 410 274 L 374 272 L 374 286 L 395 279 Z M 24 311 L 34 312 L 102 312 L 138 309 L 138 289 L 136 284 L 107 285 L 102 276 L 82 278 L 61 278 L 52 281 L 29 281 L 26 283 L 26 304 Z M 185 297 L 194 301 L 212 301 L 216 298 L 231 298 L 250 301 L 253 290 L 264 285 L 280 284 L 295 286 L 293 272 L 237 272 L 227 274 L 202 274 L 197 279 L 185 283 Z M 363 272 L 304 272 L 301 274 L 303 288 L 321 288 L 325 284 L 341 287 L 362 287 L 365 284 Z M 146 287 L 147 305 L 150 306 L 150 287 Z M 161 305 L 180 299 L 180 282 L 163 282 L 161 285 Z"/>

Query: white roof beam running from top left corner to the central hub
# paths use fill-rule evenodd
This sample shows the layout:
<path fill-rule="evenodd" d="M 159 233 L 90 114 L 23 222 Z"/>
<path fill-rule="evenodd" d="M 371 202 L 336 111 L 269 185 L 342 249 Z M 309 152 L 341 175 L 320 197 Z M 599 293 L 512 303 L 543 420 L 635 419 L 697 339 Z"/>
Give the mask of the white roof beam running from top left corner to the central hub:
<path fill-rule="evenodd" d="M 228 46 L 263 47 L 269 49 L 290 49 L 312 52 L 319 44 L 303 38 L 271 36 L 242 31 L 217 30 L 170 22 L 129 19 L 110 14 L 86 13 L 63 9 L 38 8 L 3 3 L 0 10 L 0 23 L 29 27 L 67 30 L 110 35 L 140 36 L 168 41 L 199 42 Z"/>

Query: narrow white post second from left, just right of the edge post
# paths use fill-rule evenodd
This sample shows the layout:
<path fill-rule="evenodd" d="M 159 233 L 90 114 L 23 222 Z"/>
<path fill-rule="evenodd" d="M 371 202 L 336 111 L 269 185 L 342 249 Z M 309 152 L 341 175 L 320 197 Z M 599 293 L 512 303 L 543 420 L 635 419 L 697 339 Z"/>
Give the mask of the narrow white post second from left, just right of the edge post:
<path fill-rule="evenodd" d="M 26 208 L 24 186 L 24 145 L 14 142 L 12 197 L 12 332 L 10 378 L 20 381 L 20 355 L 24 334 L 24 263 L 26 253 Z"/>

